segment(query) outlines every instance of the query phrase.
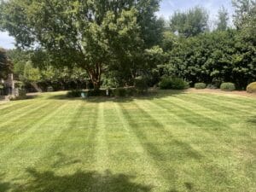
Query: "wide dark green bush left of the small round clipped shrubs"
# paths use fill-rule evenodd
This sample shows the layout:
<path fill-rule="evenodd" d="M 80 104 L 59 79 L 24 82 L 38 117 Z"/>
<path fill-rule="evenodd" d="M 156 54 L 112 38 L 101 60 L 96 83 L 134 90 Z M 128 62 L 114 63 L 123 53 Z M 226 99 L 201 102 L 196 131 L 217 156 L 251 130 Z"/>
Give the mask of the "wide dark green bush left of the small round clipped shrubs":
<path fill-rule="evenodd" d="M 162 90 L 184 90 L 189 87 L 189 84 L 180 78 L 165 77 L 161 79 L 159 86 Z"/>

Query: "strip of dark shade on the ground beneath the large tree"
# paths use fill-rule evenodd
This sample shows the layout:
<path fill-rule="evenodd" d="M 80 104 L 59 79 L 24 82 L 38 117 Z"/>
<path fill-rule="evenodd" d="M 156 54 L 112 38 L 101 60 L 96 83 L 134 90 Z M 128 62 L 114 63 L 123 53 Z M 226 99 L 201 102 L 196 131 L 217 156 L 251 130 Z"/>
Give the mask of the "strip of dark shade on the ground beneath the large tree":
<path fill-rule="evenodd" d="M 68 100 L 68 101 L 84 101 L 84 102 L 132 102 L 133 100 L 152 100 L 162 98 L 166 96 L 177 96 L 185 94 L 186 90 L 149 90 L 145 96 L 125 96 L 125 97 L 104 97 L 104 96 L 91 96 L 87 99 L 82 98 L 71 98 L 67 97 L 66 94 L 55 93 L 54 95 L 48 96 L 49 99 L 53 100 Z"/>

